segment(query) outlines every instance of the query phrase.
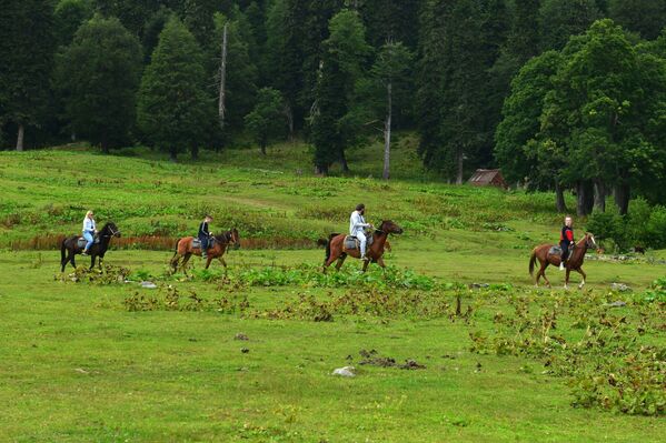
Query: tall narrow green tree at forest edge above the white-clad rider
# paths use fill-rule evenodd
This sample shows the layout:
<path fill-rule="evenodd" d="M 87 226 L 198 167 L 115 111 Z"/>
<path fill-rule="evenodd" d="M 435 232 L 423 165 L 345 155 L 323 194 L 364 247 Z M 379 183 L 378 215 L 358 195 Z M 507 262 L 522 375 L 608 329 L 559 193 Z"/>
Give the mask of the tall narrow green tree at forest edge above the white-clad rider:
<path fill-rule="evenodd" d="M 352 111 L 357 82 L 370 47 L 356 11 L 344 10 L 330 20 L 330 37 L 324 42 L 324 57 L 316 89 L 316 111 L 311 118 L 315 165 L 326 174 L 334 161 L 348 171 L 345 149 L 356 144 L 362 122 Z"/>

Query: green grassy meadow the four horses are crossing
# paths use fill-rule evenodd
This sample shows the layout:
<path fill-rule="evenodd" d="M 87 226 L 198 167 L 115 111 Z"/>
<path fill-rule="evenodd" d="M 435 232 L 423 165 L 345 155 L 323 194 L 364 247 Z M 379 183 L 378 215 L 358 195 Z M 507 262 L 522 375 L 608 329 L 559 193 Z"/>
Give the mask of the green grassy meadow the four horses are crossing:
<path fill-rule="evenodd" d="M 408 137 L 384 183 L 368 178 L 378 150 L 352 152 L 356 177 L 327 179 L 299 144 L 182 164 L 142 150 L 0 153 L 0 441 L 662 441 L 665 304 L 648 288 L 664 251 L 587 262 L 585 291 L 550 270 L 558 288 L 536 291 L 529 251 L 559 228 L 550 194 L 438 184 Z M 405 228 L 392 268 L 360 276 L 349 260 L 322 280 L 315 240 L 345 230 L 359 201 Z M 58 251 L 26 246 L 77 232 L 88 208 L 126 238 L 191 234 L 209 211 L 246 248 L 228 278 L 197 259 L 186 279 L 166 274 L 169 251 L 125 244 L 106 262 L 133 282 L 72 282 Z M 371 350 L 396 365 L 361 364 Z M 356 377 L 331 375 L 346 365 Z"/>

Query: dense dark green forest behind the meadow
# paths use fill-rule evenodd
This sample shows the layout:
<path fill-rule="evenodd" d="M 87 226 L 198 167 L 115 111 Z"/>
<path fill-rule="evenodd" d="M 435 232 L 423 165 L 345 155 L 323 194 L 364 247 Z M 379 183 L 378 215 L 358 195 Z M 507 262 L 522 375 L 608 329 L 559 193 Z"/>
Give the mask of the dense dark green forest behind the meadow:
<path fill-rule="evenodd" d="M 0 145 L 298 137 L 326 174 L 379 138 L 388 179 L 411 130 L 445 180 L 624 214 L 666 202 L 665 24 L 664 0 L 2 0 Z"/>

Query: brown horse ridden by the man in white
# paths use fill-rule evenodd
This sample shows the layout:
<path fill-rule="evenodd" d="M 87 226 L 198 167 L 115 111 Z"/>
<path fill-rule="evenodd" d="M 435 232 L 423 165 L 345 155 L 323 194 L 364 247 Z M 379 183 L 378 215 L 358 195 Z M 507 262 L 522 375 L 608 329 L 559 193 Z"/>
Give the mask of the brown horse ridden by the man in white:
<path fill-rule="evenodd" d="M 364 262 L 362 272 L 366 272 L 368 269 L 368 264 L 370 262 L 379 264 L 381 268 L 386 268 L 384 263 L 384 252 L 386 251 L 386 243 L 389 234 L 401 234 L 402 228 L 398 226 L 390 220 L 385 220 L 381 222 L 378 229 L 372 233 L 372 244 L 368 246 L 366 251 L 366 256 L 369 260 Z M 345 248 L 345 238 L 346 234 L 330 234 L 328 238 L 328 243 L 326 244 L 326 258 L 324 259 L 324 272 L 328 266 L 332 264 L 336 260 L 338 263 L 336 264 L 336 270 L 340 270 L 342 263 L 345 263 L 345 259 L 347 255 L 352 256 L 355 259 L 360 259 L 360 249 L 348 250 Z"/>

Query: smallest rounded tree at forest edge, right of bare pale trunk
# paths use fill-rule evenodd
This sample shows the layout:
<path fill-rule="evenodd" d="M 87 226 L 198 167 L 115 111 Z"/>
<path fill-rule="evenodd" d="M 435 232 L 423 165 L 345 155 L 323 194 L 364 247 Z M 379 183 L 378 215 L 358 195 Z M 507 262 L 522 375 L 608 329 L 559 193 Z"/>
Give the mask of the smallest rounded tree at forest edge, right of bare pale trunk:
<path fill-rule="evenodd" d="M 280 91 L 262 88 L 257 93 L 257 104 L 252 112 L 245 117 L 248 131 L 259 143 L 261 153 L 266 155 L 266 145 L 287 132 L 285 103 Z"/>

